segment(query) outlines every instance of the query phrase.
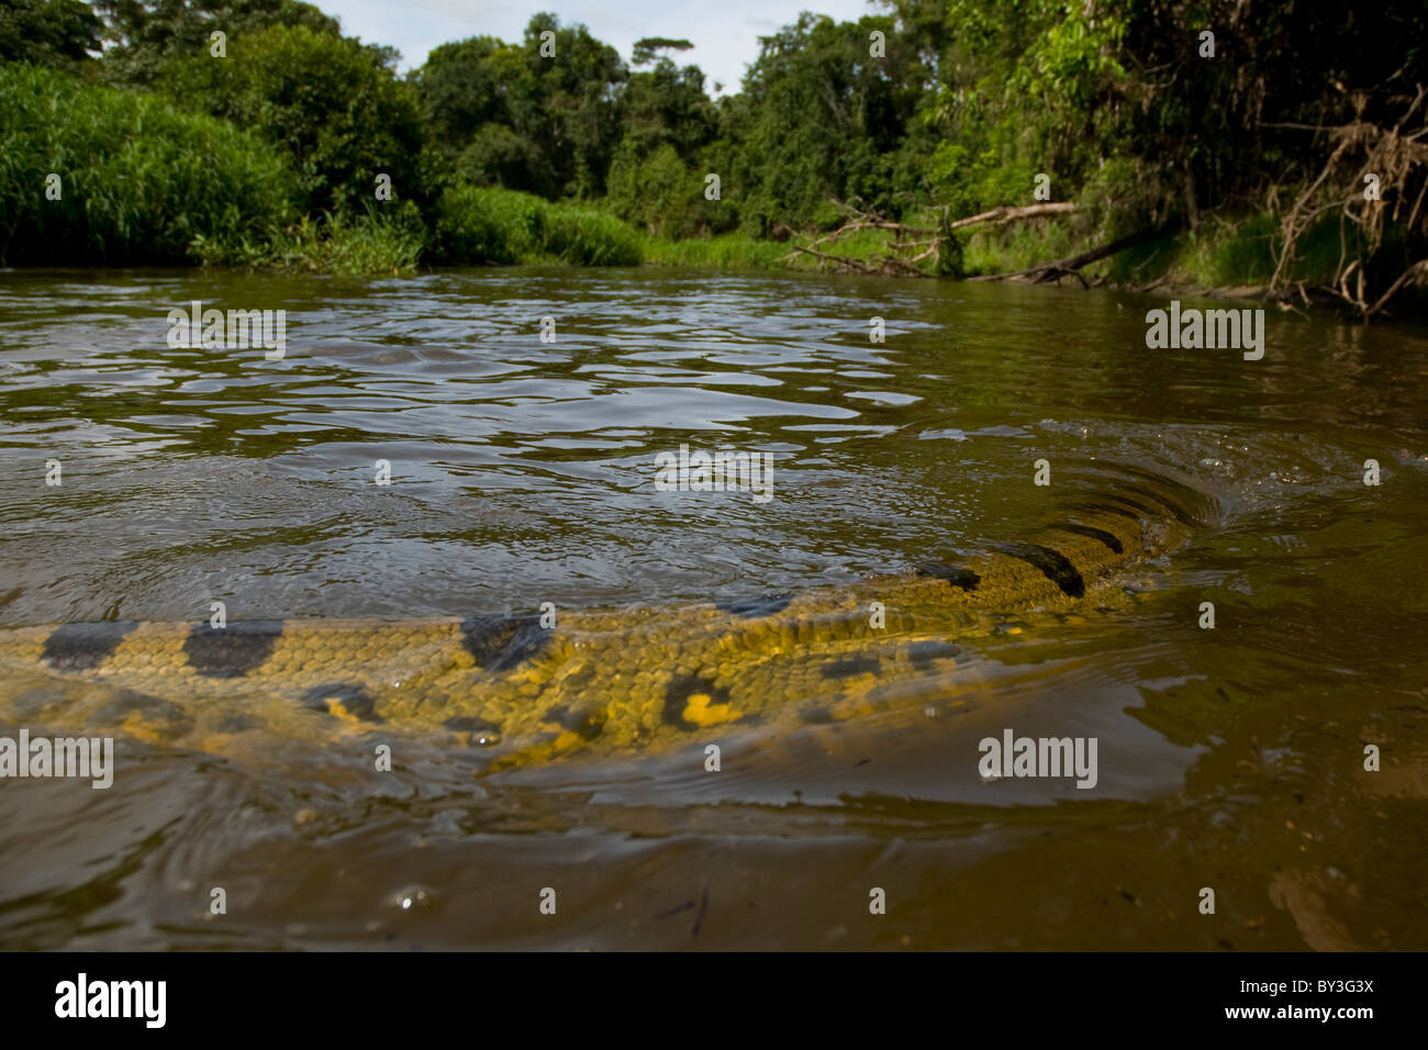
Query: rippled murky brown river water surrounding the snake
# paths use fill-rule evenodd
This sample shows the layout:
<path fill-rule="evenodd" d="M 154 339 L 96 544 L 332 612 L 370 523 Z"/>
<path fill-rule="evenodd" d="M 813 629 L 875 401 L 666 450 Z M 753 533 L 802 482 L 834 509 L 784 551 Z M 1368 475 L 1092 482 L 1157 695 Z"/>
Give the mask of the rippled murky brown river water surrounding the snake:
<path fill-rule="evenodd" d="M 284 357 L 170 346 L 191 300 L 286 310 Z M 975 717 L 811 727 L 717 773 L 121 737 L 107 790 L 0 780 L 0 947 L 1428 949 L 1428 333 L 1269 307 L 1262 360 L 1150 350 L 1165 306 L 0 271 L 0 627 L 677 610 L 987 549 L 1117 471 L 1202 496 L 1124 603 L 1008 620 L 948 686 Z M 773 499 L 657 491 L 681 444 L 771 454 Z M 987 780 L 1004 729 L 1094 737 L 1095 787 Z"/>

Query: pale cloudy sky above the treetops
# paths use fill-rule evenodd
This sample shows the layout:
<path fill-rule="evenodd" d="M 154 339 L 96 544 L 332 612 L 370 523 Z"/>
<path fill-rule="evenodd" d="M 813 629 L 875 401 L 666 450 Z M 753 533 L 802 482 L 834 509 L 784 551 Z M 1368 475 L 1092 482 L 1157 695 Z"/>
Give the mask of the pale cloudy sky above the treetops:
<path fill-rule="evenodd" d="M 341 19 L 343 33 L 363 43 L 391 44 L 401 69 L 426 61 L 427 51 L 448 40 L 494 36 L 517 41 L 537 11 L 554 11 L 563 26 L 583 21 L 591 36 L 614 46 L 625 61 L 641 37 L 674 37 L 694 44 L 675 54 L 681 66 L 697 64 L 714 91 L 737 91 L 744 67 L 758 57 L 758 37 L 771 36 L 814 10 L 838 21 L 888 9 L 868 0 L 310 0 Z"/>

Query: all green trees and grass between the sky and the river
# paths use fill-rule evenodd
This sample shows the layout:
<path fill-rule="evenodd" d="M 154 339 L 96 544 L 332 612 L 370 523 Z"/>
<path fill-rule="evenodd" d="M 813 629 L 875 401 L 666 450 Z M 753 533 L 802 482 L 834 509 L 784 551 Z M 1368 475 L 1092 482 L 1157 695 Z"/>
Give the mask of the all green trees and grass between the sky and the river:
<path fill-rule="evenodd" d="M 403 76 L 296 0 L 11 0 L 0 260 L 835 267 L 1422 309 L 1421 3 L 880 7 L 800 16 L 711 96 L 688 41 L 627 61 L 554 14 Z"/>

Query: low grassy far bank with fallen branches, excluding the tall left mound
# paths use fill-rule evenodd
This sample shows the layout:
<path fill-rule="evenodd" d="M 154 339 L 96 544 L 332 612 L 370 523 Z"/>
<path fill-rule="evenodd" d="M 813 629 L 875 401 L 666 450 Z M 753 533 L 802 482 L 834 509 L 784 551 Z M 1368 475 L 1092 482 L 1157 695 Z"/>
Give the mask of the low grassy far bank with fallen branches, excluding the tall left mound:
<path fill-rule="evenodd" d="M 516 201 L 527 214 L 544 213 L 563 217 L 578 239 L 564 241 L 540 231 L 538 221 L 523 220 L 526 229 L 504 229 L 498 220 L 480 220 L 486 256 L 481 251 L 426 250 L 420 234 L 401 230 L 400 224 L 381 219 L 364 219 L 351 224 L 304 224 L 276 243 L 278 247 L 256 253 L 251 259 L 217 256 L 208 266 L 281 273 L 308 271 L 344 276 L 400 276 L 451 264 L 500 266 L 647 266 L 664 269 L 711 269 L 751 273 L 845 273 L 890 280 L 1000 280 L 1007 274 L 1021 274 L 1058 257 L 1074 256 L 1094 247 L 1094 237 L 1077 237 L 1061 220 L 1040 220 L 1015 231 L 978 233 L 958 246 L 961 271 L 940 274 L 937 259 L 924 261 L 917 273 L 864 273 L 863 264 L 875 270 L 898 244 L 891 233 L 858 231 L 837 241 L 838 257 L 850 264 L 830 261 L 801 249 L 828 237 L 808 231 L 783 241 L 758 240 L 740 233 L 713 237 L 674 240 L 630 229 L 617 217 L 603 213 L 600 206 L 550 204 L 526 199 L 504 190 L 478 191 L 487 199 Z M 547 219 L 547 221 L 550 221 Z M 1060 223 L 1060 224 L 1058 224 Z M 1338 313 L 1354 319 L 1345 300 L 1329 287 L 1335 260 L 1328 241 L 1309 244 L 1309 251 L 1287 280 L 1275 286 L 1272 217 L 1250 216 L 1238 221 L 1211 219 L 1198 230 L 1182 230 L 1125 253 L 1062 274 L 1065 281 L 1084 287 L 1105 287 L 1118 291 L 1154 293 L 1192 299 L 1235 299 L 1272 303 L 1282 310 L 1315 310 Z M 534 233 L 531 230 L 534 229 Z M 578 243 L 571 251 L 568 244 Z M 827 254 L 827 253 L 824 253 Z M 453 256 L 458 263 L 448 261 Z M 428 261 L 430 260 L 430 261 Z M 597 261 L 591 261 L 597 260 Z M 1017 280 L 1017 277 L 1011 277 Z M 1428 296 L 1421 289 L 1405 289 L 1387 320 L 1428 320 Z"/>

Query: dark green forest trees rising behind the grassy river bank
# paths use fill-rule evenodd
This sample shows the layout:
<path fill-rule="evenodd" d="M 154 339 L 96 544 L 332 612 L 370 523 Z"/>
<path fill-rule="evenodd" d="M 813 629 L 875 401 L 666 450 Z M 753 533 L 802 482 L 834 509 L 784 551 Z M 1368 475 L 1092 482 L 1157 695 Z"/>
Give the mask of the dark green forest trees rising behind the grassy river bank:
<path fill-rule="evenodd" d="M 396 53 L 341 36 L 297 0 L 97 0 L 103 57 L 90 57 L 99 26 L 77 0 L 7 0 L 0 60 L 231 121 L 290 166 L 290 196 L 310 216 L 416 204 L 403 229 L 426 229 L 434 261 L 480 244 L 493 261 L 511 257 L 518 237 L 498 247 L 480 230 L 511 233 L 501 216 L 513 197 L 483 187 L 578 203 L 585 226 L 597 209 L 664 239 L 785 240 L 833 229 L 847 203 L 922 226 L 1030 204 L 1038 177 L 1051 200 L 1078 204 L 1070 220 L 1037 220 L 1041 250 L 1150 227 L 1190 231 L 1202 251 L 1207 226 L 1232 227 L 1211 267 L 1227 279 L 1312 270 L 1315 246 L 1332 241 L 1341 259 L 1325 273 L 1347 280 L 1342 259 L 1361 260 L 1369 284 L 1428 256 L 1421 0 L 1364 11 L 1317 0 L 881 7 L 855 23 L 800 16 L 717 99 L 697 66 L 680 64 L 688 41 L 641 40 L 627 63 L 553 14 L 533 17 L 520 41 L 443 44 L 400 77 Z M 1371 171 L 1377 210 L 1361 194 Z M 374 199 L 380 173 L 391 200 Z M 0 200 L 33 210 L 37 191 L 7 183 Z"/>

